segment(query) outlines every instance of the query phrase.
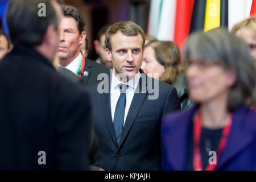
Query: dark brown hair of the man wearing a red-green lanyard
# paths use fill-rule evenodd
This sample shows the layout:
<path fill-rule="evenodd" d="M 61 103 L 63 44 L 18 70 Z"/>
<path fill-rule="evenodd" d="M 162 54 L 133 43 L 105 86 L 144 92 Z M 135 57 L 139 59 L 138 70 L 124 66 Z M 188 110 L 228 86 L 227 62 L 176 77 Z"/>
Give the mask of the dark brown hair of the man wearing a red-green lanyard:
<path fill-rule="evenodd" d="M 82 14 L 80 13 L 80 11 L 76 7 L 73 7 L 70 5 L 61 5 L 61 7 L 63 9 L 64 16 L 72 17 L 76 20 L 76 25 L 79 30 L 79 34 L 81 34 L 81 32 L 83 32 L 83 31 L 85 31 L 84 30 L 85 19 L 82 16 Z"/>

